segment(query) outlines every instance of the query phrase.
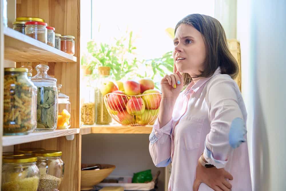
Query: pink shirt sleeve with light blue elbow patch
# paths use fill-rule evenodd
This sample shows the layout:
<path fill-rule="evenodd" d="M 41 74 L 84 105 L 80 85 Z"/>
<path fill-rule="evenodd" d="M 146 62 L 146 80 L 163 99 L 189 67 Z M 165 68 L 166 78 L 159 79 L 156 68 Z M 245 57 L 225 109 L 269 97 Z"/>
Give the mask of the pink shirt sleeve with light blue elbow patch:
<path fill-rule="evenodd" d="M 224 168 L 233 149 L 246 141 L 247 130 L 237 91 L 235 81 L 225 76 L 213 79 L 207 87 L 211 123 L 203 155 L 217 168 Z"/>

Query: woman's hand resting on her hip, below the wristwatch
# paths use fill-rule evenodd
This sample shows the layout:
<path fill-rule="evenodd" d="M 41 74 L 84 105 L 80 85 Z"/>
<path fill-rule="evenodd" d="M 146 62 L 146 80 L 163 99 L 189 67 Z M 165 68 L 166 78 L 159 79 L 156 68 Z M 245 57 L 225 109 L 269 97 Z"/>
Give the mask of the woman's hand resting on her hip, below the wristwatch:
<path fill-rule="evenodd" d="M 205 183 L 215 191 L 230 191 L 232 186 L 226 178 L 233 180 L 233 176 L 231 176 L 229 172 L 225 171 L 224 168 L 206 168 L 198 162 L 193 190 L 198 191 L 200 183 Z"/>

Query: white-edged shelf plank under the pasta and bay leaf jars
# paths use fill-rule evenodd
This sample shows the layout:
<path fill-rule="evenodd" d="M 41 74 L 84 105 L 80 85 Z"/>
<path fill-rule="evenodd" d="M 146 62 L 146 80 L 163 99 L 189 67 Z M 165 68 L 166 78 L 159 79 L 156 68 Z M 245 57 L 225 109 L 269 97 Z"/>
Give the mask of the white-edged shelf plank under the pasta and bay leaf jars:
<path fill-rule="evenodd" d="M 78 134 L 79 132 L 80 132 L 79 128 L 74 128 L 74 129 L 56 129 L 54 131 L 48 131 L 48 132 L 33 132 L 30 133 L 29 135 L 3 136 L 2 146 L 5 147 L 10 145 L 29 143 L 33 141 L 40 141 L 44 139 L 51 139 L 55 137 Z"/>

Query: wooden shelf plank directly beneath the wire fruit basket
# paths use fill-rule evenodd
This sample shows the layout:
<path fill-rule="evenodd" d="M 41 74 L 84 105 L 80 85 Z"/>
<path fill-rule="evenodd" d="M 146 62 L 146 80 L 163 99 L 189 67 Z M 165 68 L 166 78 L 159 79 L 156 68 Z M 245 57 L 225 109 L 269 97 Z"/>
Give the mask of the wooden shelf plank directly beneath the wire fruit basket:
<path fill-rule="evenodd" d="M 86 135 L 91 133 L 111 133 L 111 134 L 150 134 L 152 126 L 122 126 L 121 124 L 110 125 L 82 125 L 80 134 Z"/>

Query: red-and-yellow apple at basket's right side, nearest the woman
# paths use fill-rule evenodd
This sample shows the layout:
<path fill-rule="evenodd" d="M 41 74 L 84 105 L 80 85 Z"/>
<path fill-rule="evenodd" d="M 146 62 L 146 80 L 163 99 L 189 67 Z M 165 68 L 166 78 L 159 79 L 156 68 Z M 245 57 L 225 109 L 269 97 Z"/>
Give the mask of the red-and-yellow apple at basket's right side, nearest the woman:
<path fill-rule="evenodd" d="M 149 94 L 149 93 L 159 93 L 160 94 L 160 91 L 155 90 L 155 89 L 148 89 L 148 90 L 143 92 L 143 95 Z M 142 96 L 142 99 L 145 102 L 146 108 L 149 110 L 158 109 L 158 107 L 160 106 L 161 98 L 162 98 L 161 95 L 158 95 L 158 94 L 150 94 L 150 95 Z"/>

